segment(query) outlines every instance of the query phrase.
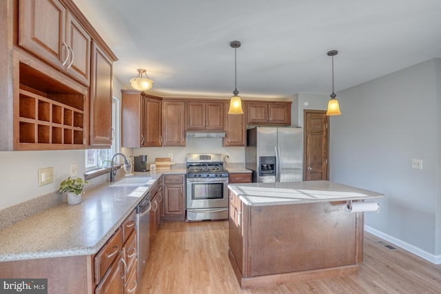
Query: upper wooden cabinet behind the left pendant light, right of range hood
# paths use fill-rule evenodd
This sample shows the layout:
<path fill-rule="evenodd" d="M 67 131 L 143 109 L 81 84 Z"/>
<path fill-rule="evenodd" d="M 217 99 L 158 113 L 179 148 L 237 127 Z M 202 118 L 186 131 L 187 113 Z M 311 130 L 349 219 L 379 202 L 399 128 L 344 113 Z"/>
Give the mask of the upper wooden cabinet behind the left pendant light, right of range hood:
<path fill-rule="evenodd" d="M 225 103 L 225 138 L 223 146 L 246 146 L 247 128 L 245 114 L 228 114 L 229 101 Z"/>

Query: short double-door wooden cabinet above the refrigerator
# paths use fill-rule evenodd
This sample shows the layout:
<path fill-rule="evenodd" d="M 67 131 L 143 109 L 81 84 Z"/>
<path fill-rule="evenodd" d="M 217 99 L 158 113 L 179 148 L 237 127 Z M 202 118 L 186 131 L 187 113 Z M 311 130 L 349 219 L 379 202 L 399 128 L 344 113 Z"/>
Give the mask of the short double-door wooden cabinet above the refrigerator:
<path fill-rule="evenodd" d="M 291 102 L 247 102 L 248 125 L 291 125 Z"/>

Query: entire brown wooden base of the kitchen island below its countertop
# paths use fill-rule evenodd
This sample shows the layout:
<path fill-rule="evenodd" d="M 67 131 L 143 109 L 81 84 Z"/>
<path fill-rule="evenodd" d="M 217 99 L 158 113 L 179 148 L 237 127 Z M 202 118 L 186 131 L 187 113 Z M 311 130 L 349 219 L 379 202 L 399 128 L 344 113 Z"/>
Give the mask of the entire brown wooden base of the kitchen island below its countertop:
<path fill-rule="evenodd" d="M 242 288 L 358 274 L 363 213 L 345 201 L 248 206 L 230 190 L 229 261 Z"/>

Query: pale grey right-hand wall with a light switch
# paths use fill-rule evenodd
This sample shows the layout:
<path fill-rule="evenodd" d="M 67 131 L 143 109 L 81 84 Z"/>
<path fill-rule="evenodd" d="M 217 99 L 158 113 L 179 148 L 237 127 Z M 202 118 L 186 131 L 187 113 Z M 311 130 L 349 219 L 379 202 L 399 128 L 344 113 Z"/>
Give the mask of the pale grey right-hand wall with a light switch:
<path fill-rule="evenodd" d="M 338 92 L 330 180 L 386 194 L 365 224 L 433 258 L 441 254 L 441 59 Z M 423 169 L 412 169 L 412 158 Z"/>

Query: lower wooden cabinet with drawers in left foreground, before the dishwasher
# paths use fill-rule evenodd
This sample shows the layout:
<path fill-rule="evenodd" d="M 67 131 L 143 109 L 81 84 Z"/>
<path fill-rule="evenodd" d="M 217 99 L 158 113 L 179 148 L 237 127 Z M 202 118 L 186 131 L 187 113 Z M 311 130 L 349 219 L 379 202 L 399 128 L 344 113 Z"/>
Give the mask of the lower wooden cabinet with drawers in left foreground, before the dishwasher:
<path fill-rule="evenodd" d="M 0 277 L 48 279 L 48 294 L 136 293 L 138 249 L 132 220 L 135 210 L 95 255 L 0 262 Z M 124 236 L 127 227 L 130 233 Z"/>

